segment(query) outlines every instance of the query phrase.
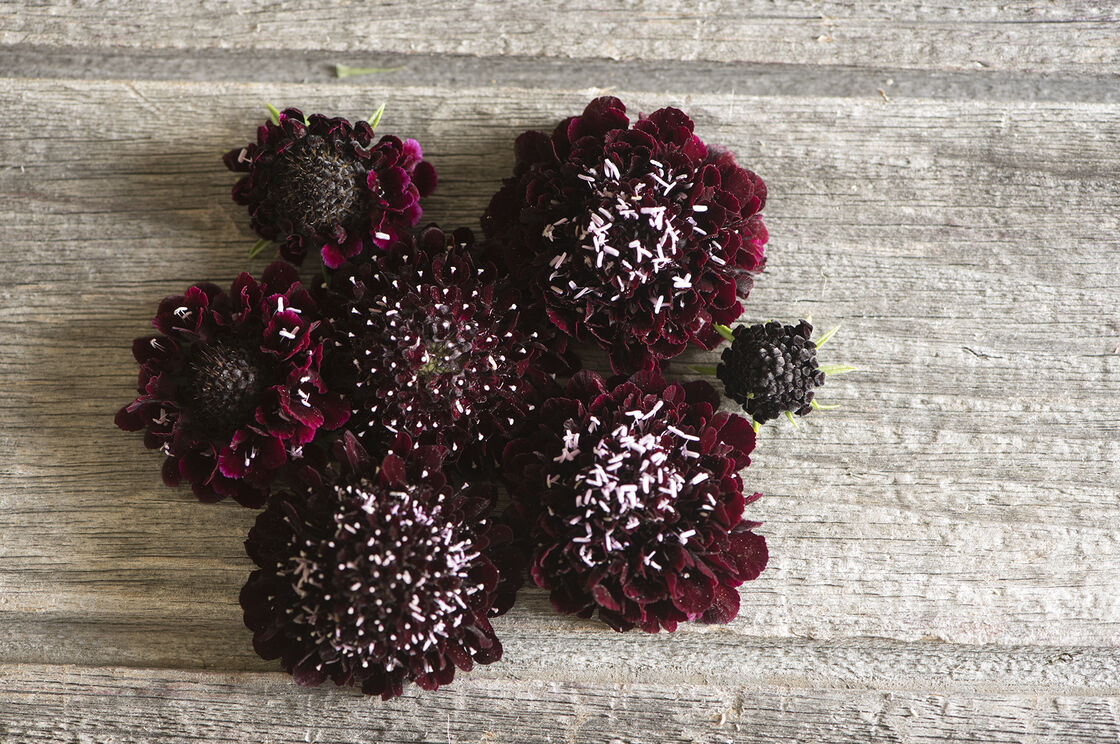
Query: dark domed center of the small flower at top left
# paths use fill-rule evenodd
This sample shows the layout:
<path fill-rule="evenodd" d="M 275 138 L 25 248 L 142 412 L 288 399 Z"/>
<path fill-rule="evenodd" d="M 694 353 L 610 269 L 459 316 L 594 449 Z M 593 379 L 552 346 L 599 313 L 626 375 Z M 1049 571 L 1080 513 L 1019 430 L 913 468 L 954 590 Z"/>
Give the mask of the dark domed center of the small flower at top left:
<path fill-rule="evenodd" d="M 330 232 L 358 211 L 361 187 L 356 164 L 321 137 L 309 136 L 277 159 L 269 197 L 297 227 Z"/>

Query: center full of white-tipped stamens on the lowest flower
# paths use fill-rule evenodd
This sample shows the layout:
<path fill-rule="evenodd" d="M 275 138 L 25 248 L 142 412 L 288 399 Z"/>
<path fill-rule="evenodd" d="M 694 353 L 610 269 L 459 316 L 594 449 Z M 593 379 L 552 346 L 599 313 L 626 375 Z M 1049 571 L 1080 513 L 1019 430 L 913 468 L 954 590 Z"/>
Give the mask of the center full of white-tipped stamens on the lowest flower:
<path fill-rule="evenodd" d="M 283 567 L 299 597 L 293 622 L 343 657 L 384 655 L 386 671 L 447 638 L 468 613 L 468 583 L 478 557 L 456 526 L 405 491 L 338 489 L 352 509 L 335 515 L 325 542 L 295 545 Z M 388 651 L 388 653 L 386 653 Z M 430 670 L 429 670 L 430 671 Z"/>

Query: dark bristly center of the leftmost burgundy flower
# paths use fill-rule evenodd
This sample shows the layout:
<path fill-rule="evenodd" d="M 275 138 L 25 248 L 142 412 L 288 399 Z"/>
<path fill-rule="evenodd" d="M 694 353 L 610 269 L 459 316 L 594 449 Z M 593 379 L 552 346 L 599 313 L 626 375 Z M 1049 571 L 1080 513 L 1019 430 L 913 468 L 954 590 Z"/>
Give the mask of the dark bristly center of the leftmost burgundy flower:
<path fill-rule="evenodd" d="M 186 389 L 199 429 L 232 431 L 244 424 L 264 391 L 264 359 L 252 350 L 217 342 L 190 350 Z"/>

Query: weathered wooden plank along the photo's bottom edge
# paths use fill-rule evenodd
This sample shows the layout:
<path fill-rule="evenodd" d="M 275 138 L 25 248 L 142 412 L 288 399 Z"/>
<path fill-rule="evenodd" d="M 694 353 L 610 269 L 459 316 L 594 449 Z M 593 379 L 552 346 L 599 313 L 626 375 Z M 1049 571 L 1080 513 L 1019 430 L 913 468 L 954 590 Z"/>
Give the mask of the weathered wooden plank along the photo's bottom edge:
<path fill-rule="evenodd" d="M 1116 696 L 457 680 L 390 703 L 278 675 L 0 666 L 8 742 L 1113 744 Z"/>

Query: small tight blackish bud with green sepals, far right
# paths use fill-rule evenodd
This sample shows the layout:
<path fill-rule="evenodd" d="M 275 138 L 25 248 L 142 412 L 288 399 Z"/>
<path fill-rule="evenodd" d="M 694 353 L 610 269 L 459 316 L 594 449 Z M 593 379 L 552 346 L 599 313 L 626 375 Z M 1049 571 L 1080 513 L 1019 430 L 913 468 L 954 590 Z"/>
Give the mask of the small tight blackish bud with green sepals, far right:
<path fill-rule="evenodd" d="M 732 331 L 716 375 L 727 397 L 743 406 L 758 424 L 790 412 L 805 416 L 812 410 L 813 388 L 824 384 L 816 363 L 816 344 L 809 340 L 808 320 L 783 326 L 773 320 Z"/>

